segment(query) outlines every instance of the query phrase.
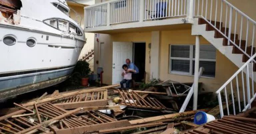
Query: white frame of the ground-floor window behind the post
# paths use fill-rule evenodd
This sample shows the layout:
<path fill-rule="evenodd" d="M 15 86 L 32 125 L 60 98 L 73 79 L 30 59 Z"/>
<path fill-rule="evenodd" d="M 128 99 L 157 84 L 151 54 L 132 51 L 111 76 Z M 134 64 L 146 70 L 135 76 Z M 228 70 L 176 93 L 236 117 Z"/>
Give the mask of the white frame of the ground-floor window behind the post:
<path fill-rule="evenodd" d="M 172 45 L 187 45 L 189 46 L 189 58 L 184 57 L 171 57 L 171 46 Z M 185 76 L 194 76 L 193 75 L 193 61 L 195 61 L 195 58 L 193 58 L 193 47 L 195 44 L 169 44 L 169 67 L 168 67 L 168 73 L 169 74 L 177 74 L 177 75 L 185 75 Z M 200 44 L 200 45 L 211 45 L 211 44 Z M 215 48 L 216 49 L 216 48 Z M 189 60 L 189 72 L 183 72 L 183 71 L 172 71 L 172 61 L 171 60 Z M 215 74 L 216 74 L 216 55 L 215 59 L 207 59 L 207 58 L 199 58 L 199 61 L 210 61 L 215 62 Z M 216 75 L 215 75 L 216 76 Z M 210 76 L 201 76 L 203 78 L 212 78 L 214 77 Z"/>

